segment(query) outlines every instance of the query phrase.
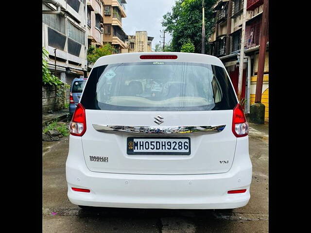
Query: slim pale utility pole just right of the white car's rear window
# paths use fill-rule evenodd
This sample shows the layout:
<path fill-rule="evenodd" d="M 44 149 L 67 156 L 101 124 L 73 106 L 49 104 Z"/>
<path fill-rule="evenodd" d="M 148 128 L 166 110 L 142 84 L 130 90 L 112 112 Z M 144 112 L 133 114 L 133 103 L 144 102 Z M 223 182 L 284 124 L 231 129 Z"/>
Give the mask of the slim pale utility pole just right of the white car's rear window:
<path fill-rule="evenodd" d="M 242 100 L 242 84 L 243 84 L 243 68 L 244 68 L 244 40 L 245 40 L 245 26 L 246 26 L 246 6 L 247 0 L 243 3 L 243 23 L 241 35 L 241 49 L 240 49 L 240 69 L 239 69 L 239 84 L 238 84 L 238 99 Z"/>

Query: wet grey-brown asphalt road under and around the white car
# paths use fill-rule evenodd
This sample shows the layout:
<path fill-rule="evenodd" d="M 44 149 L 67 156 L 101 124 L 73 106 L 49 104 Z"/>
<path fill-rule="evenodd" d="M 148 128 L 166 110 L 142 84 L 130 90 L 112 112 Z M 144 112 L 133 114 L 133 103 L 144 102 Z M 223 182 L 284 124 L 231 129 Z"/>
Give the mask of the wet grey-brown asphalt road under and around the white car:
<path fill-rule="evenodd" d="M 268 125 L 250 124 L 251 199 L 232 213 L 213 210 L 93 208 L 67 198 L 69 137 L 43 143 L 44 233 L 267 233 Z"/>

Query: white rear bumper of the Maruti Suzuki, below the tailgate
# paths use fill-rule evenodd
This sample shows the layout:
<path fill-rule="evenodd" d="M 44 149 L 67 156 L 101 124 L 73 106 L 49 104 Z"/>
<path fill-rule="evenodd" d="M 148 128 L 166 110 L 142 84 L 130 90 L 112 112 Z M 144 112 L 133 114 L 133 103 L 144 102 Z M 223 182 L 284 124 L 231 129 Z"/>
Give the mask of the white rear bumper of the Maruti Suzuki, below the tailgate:
<path fill-rule="evenodd" d="M 252 164 L 248 154 L 248 139 L 238 141 L 240 143 L 236 148 L 234 162 L 226 173 L 145 175 L 90 171 L 86 167 L 82 143 L 79 143 L 81 138 L 70 135 L 66 162 L 68 198 L 73 204 L 97 207 L 164 209 L 242 207 L 250 199 Z M 71 187 L 90 189 L 90 193 L 76 192 Z M 238 189 L 247 191 L 242 194 L 227 194 L 229 190 Z"/>

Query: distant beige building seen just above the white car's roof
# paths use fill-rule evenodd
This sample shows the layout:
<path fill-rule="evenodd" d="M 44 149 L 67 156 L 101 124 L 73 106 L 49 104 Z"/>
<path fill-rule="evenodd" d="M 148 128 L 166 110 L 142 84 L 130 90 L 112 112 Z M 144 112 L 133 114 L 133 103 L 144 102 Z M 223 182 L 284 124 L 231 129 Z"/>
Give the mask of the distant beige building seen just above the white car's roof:
<path fill-rule="evenodd" d="M 125 44 L 128 47 L 127 51 L 123 52 L 151 52 L 152 41 L 154 37 L 148 36 L 146 31 L 136 31 L 135 35 L 128 35 Z"/>

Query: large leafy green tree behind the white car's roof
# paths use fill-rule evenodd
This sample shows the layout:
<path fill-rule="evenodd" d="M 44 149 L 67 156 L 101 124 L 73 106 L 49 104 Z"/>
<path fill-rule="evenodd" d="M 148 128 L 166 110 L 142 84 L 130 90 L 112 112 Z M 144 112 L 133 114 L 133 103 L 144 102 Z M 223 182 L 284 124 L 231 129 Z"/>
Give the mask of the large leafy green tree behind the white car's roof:
<path fill-rule="evenodd" d="M 212 6 L 217 0 L 205 0 L 206 41 L 214 25 Z M 172 12 L 163 16 L 162 26 L 172 35 L 172 50 L 180 51 L 191 38 L 194 52 L 201 53 L 202 0 L 176 0 Z M 208 46 L 206 45 L 206 51 Z"/>

